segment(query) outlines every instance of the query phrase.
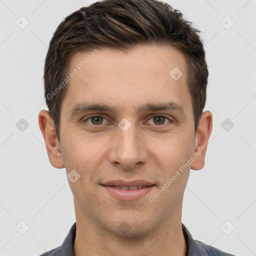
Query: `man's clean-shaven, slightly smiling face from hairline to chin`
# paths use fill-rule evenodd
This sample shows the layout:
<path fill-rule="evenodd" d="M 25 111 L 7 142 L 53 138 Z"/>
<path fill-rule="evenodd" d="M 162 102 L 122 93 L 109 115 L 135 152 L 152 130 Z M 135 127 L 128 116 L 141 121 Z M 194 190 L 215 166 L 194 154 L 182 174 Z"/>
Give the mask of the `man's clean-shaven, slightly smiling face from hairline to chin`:
<path fill-rule="evenodd" d="M 197 150 L 186 59 L 165 46 L 98 48 L 79 70 L 90 53 L 71 58 L 78 73 L 60 115 L 61 160 L 79 174 L 68 180 L 75 211 L 112 233 L 143 235 L 181 215 Z"/>

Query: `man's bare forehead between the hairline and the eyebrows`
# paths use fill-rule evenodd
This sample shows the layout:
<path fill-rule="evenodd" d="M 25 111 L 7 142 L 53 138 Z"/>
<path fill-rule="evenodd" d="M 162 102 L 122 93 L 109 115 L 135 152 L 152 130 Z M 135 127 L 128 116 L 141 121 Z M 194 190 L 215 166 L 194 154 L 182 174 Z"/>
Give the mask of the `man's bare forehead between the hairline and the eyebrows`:
<path fill-rule="evenodd" d="M 154 100 L 187 104 L 191 101 L 185 68 L 184 54 L 170 46 L 139 45 L 127 52 L 91 48 L 70 59 L 68 73 L 76 74 L 67 85 L 65 101 L 69 108 L 88 101 L 111 103 L 119 110 L 127 101 L 133 108 Z"/>

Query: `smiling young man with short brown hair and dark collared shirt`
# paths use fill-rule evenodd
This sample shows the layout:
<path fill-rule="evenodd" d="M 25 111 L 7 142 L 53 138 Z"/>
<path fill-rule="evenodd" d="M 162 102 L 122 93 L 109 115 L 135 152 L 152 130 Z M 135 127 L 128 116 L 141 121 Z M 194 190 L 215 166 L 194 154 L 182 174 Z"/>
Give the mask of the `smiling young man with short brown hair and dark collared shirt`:
<path fill-rule="evenodd" d="M 66 169 L 76 222 L 42 255 L 230 255 L 181 223 L 212 129 L 198 33 L 155 0 L 95 2 L 57 27 L 39 126 L 50 163 Z"/>

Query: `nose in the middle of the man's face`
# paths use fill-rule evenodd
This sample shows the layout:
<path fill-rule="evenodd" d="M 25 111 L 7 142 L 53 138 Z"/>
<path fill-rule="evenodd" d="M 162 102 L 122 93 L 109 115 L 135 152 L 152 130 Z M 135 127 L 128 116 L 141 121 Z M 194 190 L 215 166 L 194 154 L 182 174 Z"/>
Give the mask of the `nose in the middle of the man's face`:
<path fill-rule="evenodd" d="M 147 157 L 147 147 L 138 135 L 136 125 L 132 124 L 126 131 L 117 127 L 108 154 L 111 164 L 120 165 L 122 169 L 132 169 L 145 163 Z"/>

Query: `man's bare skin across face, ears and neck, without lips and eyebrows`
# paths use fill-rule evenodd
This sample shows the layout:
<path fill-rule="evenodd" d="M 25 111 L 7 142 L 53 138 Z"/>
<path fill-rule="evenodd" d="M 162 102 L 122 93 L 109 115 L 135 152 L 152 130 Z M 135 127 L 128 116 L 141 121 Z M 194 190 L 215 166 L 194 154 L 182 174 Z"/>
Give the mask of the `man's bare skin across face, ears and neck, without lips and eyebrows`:
<path fill-rule="evenodd" d="M 68 180 L 76 216 L 74 255 L 184 256 L 183 193 L 190 168 L 204 165 L 212 114 L 202 113 L 195 132 L 186 58 L 178 49 L 139 45 L 126 53 L 98 50 L 67 86 L 61 105 L 60 141 L 48 111 L 41 110 L 38 118 L 52 166 L 80 174 L 74 183 Z M 74 54 L 70 72 L 90 52 Z M 174 67 L 183 73 L 178 80 L 169 75 Z M 103 102 L 118 112 L 94 110 L 70 118 L 70 109 L 83 101 Z M 168 101 L 181 105 L 183 114 L 172 109 L 136 111 L 145 103 Z M 95 122 L 88 118 L 92 114 L 103 119 Z M 154 120 L 159 115 L 166 118 Z M 118 127 L 123 118 L 131 123 L 126 131 Z M 154 202 L 149 201 L 196 152 L 200 156 Z M 114 179 L 143 179 L 155 186 L 139 199 L 118 200 L 100 185 Z M 130 227 L 125 233 L 118 228 L 123 221 Z"/>

